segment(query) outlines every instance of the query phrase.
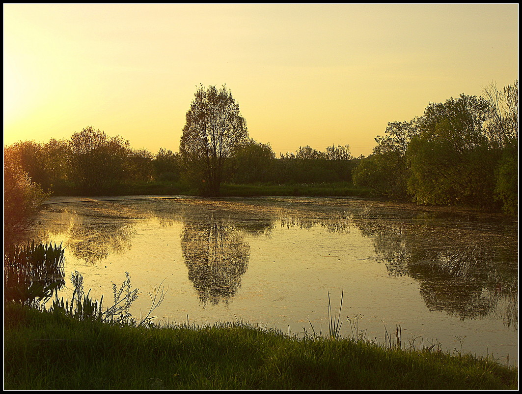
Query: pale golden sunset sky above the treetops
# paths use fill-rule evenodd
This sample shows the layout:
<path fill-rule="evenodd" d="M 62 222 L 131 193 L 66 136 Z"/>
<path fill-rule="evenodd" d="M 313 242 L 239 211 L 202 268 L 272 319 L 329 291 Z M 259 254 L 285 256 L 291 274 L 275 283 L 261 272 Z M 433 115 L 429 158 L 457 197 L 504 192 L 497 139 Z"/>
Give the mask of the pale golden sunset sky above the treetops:
<path fill-rule="evenodd" d="M 4 145 L 89 125 L 177 151 L 226 83 L 276 154 L 350 145 L 518 79 L 518 4 L 4 4 Z"/>

